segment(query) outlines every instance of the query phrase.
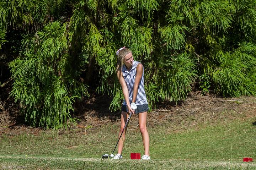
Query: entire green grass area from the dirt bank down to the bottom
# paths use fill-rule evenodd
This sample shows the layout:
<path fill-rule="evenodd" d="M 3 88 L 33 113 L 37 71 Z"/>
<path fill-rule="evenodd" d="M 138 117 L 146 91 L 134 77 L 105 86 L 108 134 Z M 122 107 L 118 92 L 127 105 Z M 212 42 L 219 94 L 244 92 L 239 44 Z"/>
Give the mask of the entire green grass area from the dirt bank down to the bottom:
<path fill-rule="evenodd" d="M 25 169 L 256 169 L 243 163 L 243 157 L 256 159 L 255 119 L 208 121 L 186 130 L 172 131 L 168 126 L 149 127 L 152 160 L 130 160 L 130 153 L 144 153 L 138 128 L 128 130 L 123 160 L 102 160 L 111 154 L 118 126 L 106 125 L 81 135 L 75 130 L 59 135 L 57 131 L 0 137 L 0 167 L 26 166 Z M 85 164 L 85 166 L 84 166 Z"/>

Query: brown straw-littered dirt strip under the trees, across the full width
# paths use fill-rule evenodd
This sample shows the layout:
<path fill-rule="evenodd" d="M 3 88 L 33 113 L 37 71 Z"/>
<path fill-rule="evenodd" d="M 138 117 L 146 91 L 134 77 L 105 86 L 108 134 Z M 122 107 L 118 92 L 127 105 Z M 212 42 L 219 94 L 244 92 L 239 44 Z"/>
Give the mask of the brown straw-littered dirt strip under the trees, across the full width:
<path fill-rule="evenodd" d="M 73 117 L 80 119 L 80 121 L 77 125 L 70 126 L 69 130 L 72 130 L 72 132 L 59 130 L 59 135 L 70 132 L 85 135 L 106 126 L 119 126 L 120 111 L 111 112 L 108 110 L 110 103 L 111 98 L 100 94 L 92 94 L 90 98 L 84 98 L 76 102 Z M 0 120 L 5 124 L 1 124 L 0 135 L 18 135 L 22 133 L 39 135 L 42 131 L 46 131 L 43 128 L 32 128 L 22 123 L 11 125 L 11 122 L 15 121 L 15 119 L 13 120 L 15 116 L 8 117 L 10 115 L 8 115 L 6 103 L 1 104 Z M 191 93 L 185 101 L 177 105 L 168 101 L 158 103 L 156 108 L 149 112 L 147 123 L 148 127 L 166 126 L 171 131 L 177 131 L 206 122 L 215 124 L 219 121 L 254 118 L 256 117 L 255 110 L 256 97 L 219 98 Z M 138 122 L 138 115 L 133 115 L 129 123 L 129 129 L 138 130 Z M 252 122 L 252 125 L 254 124 L 256 125 L 255 122 Z"/>

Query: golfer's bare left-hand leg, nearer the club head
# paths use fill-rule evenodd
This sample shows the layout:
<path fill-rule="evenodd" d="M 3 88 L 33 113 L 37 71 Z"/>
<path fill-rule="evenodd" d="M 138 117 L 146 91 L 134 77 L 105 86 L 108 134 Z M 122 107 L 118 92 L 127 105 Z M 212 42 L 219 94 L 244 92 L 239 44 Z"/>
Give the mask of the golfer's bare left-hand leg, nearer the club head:
<path fill-rule="evenodd" d="M 127 121 L 127 117 L 129 117 L 129 114 L 127 114 L 126 112 L 122 111 L 121 113 L 121 127 L 120 127 L 120 131 L 119 131 L 119 135 L 118 138 L 120 137 L 124 125 L 126 124 Z M 127 129 L 127 126 L 126 126 Z M 123 145 L 124 145 L 124 140 L 125 140 L 125 134 L 126 134 L 126 129 L 124 130 L 122 137 L 120 138 L 119 142 L 118 142 L 118 152 L 119 154 L 122 154 L 122 150 L 123 150 Z"/>

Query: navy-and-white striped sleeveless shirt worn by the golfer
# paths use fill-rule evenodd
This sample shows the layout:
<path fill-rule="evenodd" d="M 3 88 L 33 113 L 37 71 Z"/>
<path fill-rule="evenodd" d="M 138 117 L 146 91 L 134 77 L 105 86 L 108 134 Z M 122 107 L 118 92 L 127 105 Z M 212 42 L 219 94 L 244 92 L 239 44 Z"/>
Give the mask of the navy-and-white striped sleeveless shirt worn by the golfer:
<path fill-rule="evenodd" d="M 132 68 L 129 71 L 126 69 L 125 65 L 123 65 L 122 67 L 123 78 L 128 88 L 130 103 L 132 103 L 133 87 L 134 87 L 134 82 L 136 77 L 136 67 L 139 63 L 140 62 L 133 60 Z M 145 89 L 144 89 L 144 68 L 142 72 L 142 78 L 140 79 L 140 82 L 139 82 L 138 93 L 137 93 L 135 104 L 136 105 L 148 104 L 148 101 L 146 99 Z M 127 105 L 125 99 L 123 100 L 123 105 Z"/>

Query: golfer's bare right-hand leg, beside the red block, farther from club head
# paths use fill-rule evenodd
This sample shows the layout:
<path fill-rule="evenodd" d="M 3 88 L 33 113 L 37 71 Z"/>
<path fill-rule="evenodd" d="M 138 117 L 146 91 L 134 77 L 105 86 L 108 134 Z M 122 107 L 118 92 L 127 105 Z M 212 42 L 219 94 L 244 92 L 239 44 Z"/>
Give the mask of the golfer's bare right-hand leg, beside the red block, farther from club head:
<path fill-rule="evenodd" d="M 139 113 L 139 127 L 142 135 L 142 142 L 145 150 L 145 155 L 149 155 L 149 135 L 146 128 L 146 116 L 148 112 Z"/>

